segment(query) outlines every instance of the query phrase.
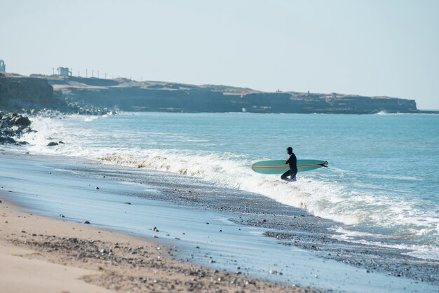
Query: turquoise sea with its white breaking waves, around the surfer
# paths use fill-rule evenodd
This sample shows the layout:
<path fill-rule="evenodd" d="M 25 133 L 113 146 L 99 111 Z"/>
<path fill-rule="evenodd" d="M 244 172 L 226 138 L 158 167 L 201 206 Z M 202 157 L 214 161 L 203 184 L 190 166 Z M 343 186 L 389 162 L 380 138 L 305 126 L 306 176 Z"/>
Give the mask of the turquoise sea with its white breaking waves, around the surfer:
<path fill-rule="evenodd" d="M 342 222 L 339 238 L 439 259 L 438 115 L 124 113 L 37 117 L 34 128 L 32 151 L 200 177 Z M 289 146 L 329 168 L 295 183 L 250 170 Z"/>

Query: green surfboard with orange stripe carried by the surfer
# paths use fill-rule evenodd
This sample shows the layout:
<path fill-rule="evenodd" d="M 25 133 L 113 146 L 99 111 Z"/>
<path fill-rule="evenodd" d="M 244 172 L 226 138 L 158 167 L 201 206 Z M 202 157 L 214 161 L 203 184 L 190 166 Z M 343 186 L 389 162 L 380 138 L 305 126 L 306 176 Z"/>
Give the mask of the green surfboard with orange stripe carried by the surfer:
<path fill-rule="evenodd" d="M 262 174 L 283 174 L 290 170 L 285 165 L 286 160 L 260 161 L 252 165 L 252 170 Z M 311 171 L 321 167 L 327 167 L 327 161 L 321 160 L 297 160 L 297 172 Z"/>

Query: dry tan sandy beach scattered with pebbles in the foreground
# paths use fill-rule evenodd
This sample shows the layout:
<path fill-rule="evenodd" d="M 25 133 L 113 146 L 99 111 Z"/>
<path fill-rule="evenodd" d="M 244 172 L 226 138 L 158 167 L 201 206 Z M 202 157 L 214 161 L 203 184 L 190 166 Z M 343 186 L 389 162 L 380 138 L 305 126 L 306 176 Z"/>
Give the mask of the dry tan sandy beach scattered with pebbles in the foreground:
<path fill-rule="evenodd" d="M 313 292 L 183 263 L 173 247 L 29 214 L 5 197 L 0 292 Z"/>

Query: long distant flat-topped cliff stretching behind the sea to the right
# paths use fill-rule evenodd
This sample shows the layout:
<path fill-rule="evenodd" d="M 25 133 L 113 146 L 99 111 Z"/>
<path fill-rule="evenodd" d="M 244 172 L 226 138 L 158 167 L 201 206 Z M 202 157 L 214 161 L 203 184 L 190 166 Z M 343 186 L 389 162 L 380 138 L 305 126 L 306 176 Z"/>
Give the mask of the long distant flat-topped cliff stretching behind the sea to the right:
<path fill-rule="evenodd" d="M 358 95 L 263 93 L 248 88 L 193 86 L 126 79 L 59 78 L 49 81 L 69 102 L 122 111 L 253 113 L 416 113 L 414 100 Z"/>

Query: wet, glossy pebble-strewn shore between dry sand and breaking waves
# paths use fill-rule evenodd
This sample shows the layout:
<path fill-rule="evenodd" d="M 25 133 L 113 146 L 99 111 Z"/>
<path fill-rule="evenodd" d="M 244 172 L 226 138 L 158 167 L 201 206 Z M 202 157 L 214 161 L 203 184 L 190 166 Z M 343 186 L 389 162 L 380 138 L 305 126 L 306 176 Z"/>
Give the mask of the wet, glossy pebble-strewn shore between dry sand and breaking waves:
<path fill-rule="evenodd" d="M 401 292 L 406 287 L 409 292 L 435 292 L 435 282 L 391 275 L 410 268 L 405 272 L 424 276 L 428 270 L 418 270 L 425 262 L 400 266 L 410 258 L 400 259 L 395 250 L 331 239 L 334 233 L 327 227 L 335 222 L 264 196 L 212 189 L 198 179 L 164 172 L 78 158 L 1 153 L 0 163 L 11 165 L 0 174 L 8 178 L 2 184 L 13 191 L 2 193 L 2 198 L 13 200 L 34 214 L 51 218 L 65 215 L 63 220 L 87 228 L 80 223 L 89 220 L 97 225 L 95 229 L 134 234 L 142 239 L 158 237 L 151 241 L 165 247 L 175 245 L 178 252 L 168 252 L 179 264 L 201 265 L 214 272 L 227 270 L 229 276 L 261 280 L 269 285 L 281 283 L 290 289 L 288 285 L 298 284 L 336 292 L 367 292 L 368 288 Z M 95 186 L 100 186 L 100 190 Z M 218 196 L 222 198 L 219 205 Z M 151 231 L 153 226 L 161 231 Z M 59 240 L 60 247 L 72 248 L 68 238 L 76 236 L 61 237 L 67 238 L 67 243 Z M 120 243 L 109 243 L 114 246 L 115 242 Z M 164 252 L 165 248 L 160 250 Z M 386 264 L 389 257 L 391 261 Z M 428 265 L 434 270 L 434 263 Z"/>

